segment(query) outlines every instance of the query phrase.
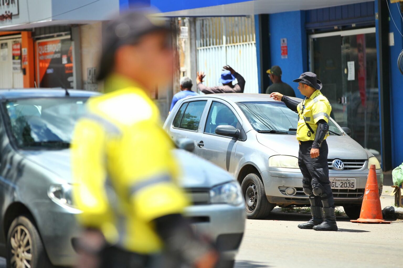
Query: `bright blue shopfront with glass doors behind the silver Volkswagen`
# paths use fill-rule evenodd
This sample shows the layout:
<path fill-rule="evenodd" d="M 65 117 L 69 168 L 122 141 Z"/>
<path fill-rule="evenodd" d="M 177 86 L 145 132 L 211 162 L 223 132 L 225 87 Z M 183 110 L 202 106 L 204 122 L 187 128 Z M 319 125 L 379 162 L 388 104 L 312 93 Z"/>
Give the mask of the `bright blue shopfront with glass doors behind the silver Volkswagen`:
<path fill-rule="evenodd" d="M 299 97 L 291 81 L 302 72 L 316 72 L 332 103 L 332 117 L 352 128 L 353 138 L 379 157 L 384 170 L 403 162 L 400 3 L 120 0 L 121 10 L 136 4 L 154 6 L 162 16 L 255 16 L 259 92 L 270 85 L 266 70 L 272 65 L 282 68 L 283 81 Z"/>

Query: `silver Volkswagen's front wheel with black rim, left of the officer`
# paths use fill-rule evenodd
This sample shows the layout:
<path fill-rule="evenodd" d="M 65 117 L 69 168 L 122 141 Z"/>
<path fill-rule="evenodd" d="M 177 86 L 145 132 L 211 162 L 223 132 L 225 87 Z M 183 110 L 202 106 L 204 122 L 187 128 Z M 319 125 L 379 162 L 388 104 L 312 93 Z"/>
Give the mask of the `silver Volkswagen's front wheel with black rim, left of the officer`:
<path fill-rule="evenodd" d="M 274 208 L 274 204 L 267 200 L 264 185 L 259 175 L 256 173 L 246 175 L 241 183 L 241 188 L 248 219 L 266 218 Z"/>

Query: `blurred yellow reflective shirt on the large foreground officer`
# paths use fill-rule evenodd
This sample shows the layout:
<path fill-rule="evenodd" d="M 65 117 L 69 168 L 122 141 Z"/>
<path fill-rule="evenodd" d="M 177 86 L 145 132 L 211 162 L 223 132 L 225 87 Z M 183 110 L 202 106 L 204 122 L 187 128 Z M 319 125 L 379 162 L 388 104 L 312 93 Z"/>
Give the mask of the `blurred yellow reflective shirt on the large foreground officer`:
<path fill-rule="evenodd" d="M 71 146 L 77 217 L 111 244 L 152 254 L 162 248 L 152 221 L 182 213 L 188 204 L 177 183 L 173 144 L 140 87 L 117 75 L 105 87 L 110 93 L 87 101 Z"/>

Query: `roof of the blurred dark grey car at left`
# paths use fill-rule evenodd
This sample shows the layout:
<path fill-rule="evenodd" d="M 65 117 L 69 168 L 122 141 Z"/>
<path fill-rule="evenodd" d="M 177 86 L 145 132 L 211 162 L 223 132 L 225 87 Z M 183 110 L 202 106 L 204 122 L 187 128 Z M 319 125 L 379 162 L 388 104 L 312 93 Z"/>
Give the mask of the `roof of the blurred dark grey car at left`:
<path fill-rule="evenodd" d="M 91 97 L 100 95 L 95 91 L 84 91 L 77 89 L 67 89 L 70 97 Z M 53 89 L 0 89 L 1 99 L 23 99 L 23 98 L 52 98 L 65 97 L 66 90 L 60 88 Z"/>

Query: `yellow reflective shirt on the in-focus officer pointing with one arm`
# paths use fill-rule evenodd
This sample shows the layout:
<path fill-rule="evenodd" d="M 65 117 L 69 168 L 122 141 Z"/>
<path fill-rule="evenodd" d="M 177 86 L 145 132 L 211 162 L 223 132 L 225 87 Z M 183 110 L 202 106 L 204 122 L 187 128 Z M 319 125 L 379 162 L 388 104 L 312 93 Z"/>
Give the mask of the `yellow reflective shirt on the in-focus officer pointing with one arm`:
<path fill-rule="evenodd" d="M 323 119 L 329 122 L 330 111 L 332 106 L 328 99 L 322 95 L 320 90 L 316 90 L 311 97 L 304 99 L 297 106 L 298 111 L 298 126 L 297 126 L 297 140 L 308 141 L 315 140 L 316 129 L 318 128 L 319 120 Z M 305 118 L 305 120 L 304 120 Z M 311 133 L 307 125 L 312 128 L 315 133 Z M 326 133 L 324 139 L 329 136 L 329 132 Z"/>

